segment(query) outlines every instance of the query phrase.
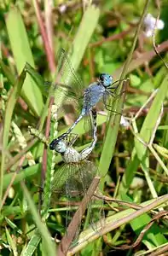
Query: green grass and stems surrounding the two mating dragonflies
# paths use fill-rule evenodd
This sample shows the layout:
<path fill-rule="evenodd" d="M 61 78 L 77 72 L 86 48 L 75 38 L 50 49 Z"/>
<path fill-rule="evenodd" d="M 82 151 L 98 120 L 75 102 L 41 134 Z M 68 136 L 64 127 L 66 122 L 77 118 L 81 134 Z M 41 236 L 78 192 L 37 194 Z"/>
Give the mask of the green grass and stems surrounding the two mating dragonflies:
<path fill-rule="evenodd" d="M 50 93 L 55 96 L 57 108 L 64 101 L 61 94 L 43 91 L 44 81 L 55 81 L 60 48 L 67 49 L 84 88 L 99 73 L 110 73 L 114 80 L 130 79 L 123 113 L 131 117 L 131 129 L 119 127 L 120 115 L 107 113 L 102 105 L 98 106 L 104 112 L 98 114 L 98 142 L 90 160 L 100 172 L 104 195 L 144 208 L 106 205 L 107 230 L 103 230 L 103 238 L 102 234 L 93 236 L 93 230 L 88 229 L 89 244 L 84 243 L 83 235 L 72 247 L 72 253 L 99 255 L 102 251 L 106 255 L 112 246 L 131 245 L 153 214 L 166 210 L 163 203 L 168 200 L 167 68 L 154 52 L 153 39 L 145 38 L 142 25 L 147 13 L 157 17 L 159 7 L 142 0 L 98 1 L 90 6 L 85 6 L 84 1 L 61 1 L 53 6 L 49 3 L 52 2 L 0 3 L 1 255 L 56 255 L 58 242 L 52 241 L 50 235 L 57 235 L 60 241 L 65 233 L 66 207 L 51 212 L 47 226 L 38 215 L 43 172 L 43 194 L 49 195 L 54 171 L 62 164 L 61 156 L 55 156 L 28 132 L 28 126 L 32 125 L 49 136 L 50 141 L 77 118 L 79 110 L 70 108 L 67 113 L 71 115 L 61 113 L 58 119 L 49 120 Z M 165 28 L 156 33 L 155 40 L 165 62 L 167 11 L 167 2 L 162 1 L 159 19 L 164 20 Z M 157 88 L 154 100 L 134 119 Z M 119 113 L 122 101 L 120 97 L 113 102 L 114 110 Z M 163 104 L 165 108 L 160 114 Z M 85 148 L 91 138 L 85 134 L 84 123 L 78 124 L 74 132 L 79 135 L 77 149 Z M 161 198 L 162 195 L 165 197 Z M 45 203 L 46 213 L 49 209 Z M 160 204 L 163 205 L 159 207 Z M 159 208 L 152 214 L 150 211 L 156 207 Z M 139 246 L 124 251 L 123 255 L 143 255 L 159 250 L 166 243 L 167 222 L 161 216 L 159 224 L 153 224 Z"/>

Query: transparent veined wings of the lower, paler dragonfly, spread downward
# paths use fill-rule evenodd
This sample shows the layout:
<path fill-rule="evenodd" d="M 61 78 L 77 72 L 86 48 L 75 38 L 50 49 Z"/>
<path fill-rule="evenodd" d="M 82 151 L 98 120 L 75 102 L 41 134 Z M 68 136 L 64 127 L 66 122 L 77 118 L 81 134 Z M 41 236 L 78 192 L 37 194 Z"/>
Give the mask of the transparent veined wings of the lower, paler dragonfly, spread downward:
<path fill-rule="evenodd" d="M 96 176 L 96 167 L 90 161 L 64 165 L 55 173 L 52 196 L 56 193 L 64 195 L 67 199 L 66 227 L 74 214 L 74 206 L 82 200 Z M 88 205 L 91 207 L 91 204 Z M 92 208 L 90 208 L 92 209 Z M 91 212 L 90 210 L 88 210 Z M 91 219 L 91 216 L 90 216 Z M 93 221 L 90 221 L 92 223 Z M 78 231 L 80 227 L 78 227 Z M 78 235 L 78 231 L 76 236 Z"/>

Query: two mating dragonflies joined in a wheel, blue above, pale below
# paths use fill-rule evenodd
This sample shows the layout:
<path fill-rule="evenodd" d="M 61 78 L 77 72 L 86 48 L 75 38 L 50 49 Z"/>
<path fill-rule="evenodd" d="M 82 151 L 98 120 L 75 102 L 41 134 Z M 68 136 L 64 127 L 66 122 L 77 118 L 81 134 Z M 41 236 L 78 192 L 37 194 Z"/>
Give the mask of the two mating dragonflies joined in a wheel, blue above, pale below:
<path fill-rule="evenodd" d="M 78 200 L 81 200 L 97 174 L 96 166 L 91 161 L 87 160 L 90 153 L 95 148 L 97 141 L 95 107 L 98 102 L 102 101 L 107 110 L 113 111 L 108 101 L 110 98 L 116 97 L 116 89 L 119 84 L 116 84 L 116 82 L 113 83 L 113 77 L 111 75 L 101 73 L 99 79 L 84 90 L 83 84 L 74 72 L 64 49 L 61 49 L 58 60 L 58 73 L 61 83 L 53 84 L 55 87 L 55 95 L 57 94 L 57 96 L 59 96 L 59 90 L 61 90 L 61 93 L 63 91 L 65 97 L 70 97 L 72 100 L 75 99 L 76 102 L 82 100 L 82 108 L 78 119 L 76 119 L 67 132 L 55 138 L 49 144 L 49 148 L 60 153 L 64 161 L 64 165 L 55 172 L 52 187 L 54 188 L 53 191 L 60 191 L 61 195 L 66 195 L 67 201 L 72 201 L 75 196 L 78 197 Z M 73 135 L 72 130 L 83 118 L 90 120 L 93 140 L 90 146 L 78 153 L 78 151 L 73 148 L 73 144 L 77 140 L 78 135 Z"/>

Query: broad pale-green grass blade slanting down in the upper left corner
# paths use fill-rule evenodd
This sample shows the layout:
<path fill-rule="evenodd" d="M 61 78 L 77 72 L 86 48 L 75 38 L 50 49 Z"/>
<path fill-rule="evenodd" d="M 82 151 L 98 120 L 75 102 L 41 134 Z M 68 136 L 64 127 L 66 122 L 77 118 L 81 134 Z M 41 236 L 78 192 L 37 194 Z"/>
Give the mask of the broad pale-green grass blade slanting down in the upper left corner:
<path fill-rule="evenodd" d="M 10 9 L 5 20 L 18 73 L 20 73 L 26 62 L 34 67 L 32 51 L 19 9 L 15 7 Z M 40 116 L 43 108 L 43 97 L 37 84 L 30 76 L 26 78 L 21 96 L 23 96 L 29 108 L 32 109 L 32 112 Z"/>

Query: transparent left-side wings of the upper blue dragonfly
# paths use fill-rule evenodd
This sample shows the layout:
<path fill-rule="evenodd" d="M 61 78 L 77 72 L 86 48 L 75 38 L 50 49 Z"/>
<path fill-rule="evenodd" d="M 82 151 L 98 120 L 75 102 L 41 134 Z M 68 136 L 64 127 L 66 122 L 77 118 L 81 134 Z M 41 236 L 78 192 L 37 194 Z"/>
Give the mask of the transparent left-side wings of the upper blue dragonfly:
<path fill-rule="evenodd" d="M 57 102 L 63 103 L 61 106 L 59 105 L 60 103 L 58 103 L 59 115 L 60 113 L 66 114 L 67 109 L 72 109 L 71 113 L 80 113 L 83 106 L 83 83 L 72 68 L 71 61 L 64 49 L 61 49 L 58 54 L 55 83 L 46 82 L 44 87 L 46 95 L 50 94 L 55 96 L 55 104 L 57 104 Z M 68 105 L 70 105 L 71 108 L 69 108 Z"/>

